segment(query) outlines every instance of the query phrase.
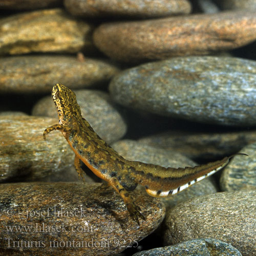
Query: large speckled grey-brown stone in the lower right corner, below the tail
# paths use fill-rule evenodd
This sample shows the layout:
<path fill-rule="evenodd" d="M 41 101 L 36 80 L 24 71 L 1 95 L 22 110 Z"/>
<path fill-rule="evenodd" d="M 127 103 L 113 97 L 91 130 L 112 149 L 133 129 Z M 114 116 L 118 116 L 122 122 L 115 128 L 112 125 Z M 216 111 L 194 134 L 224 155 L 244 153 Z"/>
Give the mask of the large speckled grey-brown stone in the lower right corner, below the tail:
<path fill-rule="evenodd" d="M 256 191 L 216 193 L 180 203 L 167 212 L 165 244 L 196 238 L 215 238 L 255 254 Z"/>

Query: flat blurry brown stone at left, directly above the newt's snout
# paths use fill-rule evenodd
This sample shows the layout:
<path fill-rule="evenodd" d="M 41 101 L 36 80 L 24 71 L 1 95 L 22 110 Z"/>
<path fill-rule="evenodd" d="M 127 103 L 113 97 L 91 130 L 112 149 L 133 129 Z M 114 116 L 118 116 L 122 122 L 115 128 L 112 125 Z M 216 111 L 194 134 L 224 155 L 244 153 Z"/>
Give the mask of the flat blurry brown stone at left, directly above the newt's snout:
<path fill-rule="evenodd" d="M 45 93 L 61 82 L 71 89 L 105 86 L 118 69 L 91 58 L 39 55 L 4 57 L 0 62 L 0 92 Z"/>

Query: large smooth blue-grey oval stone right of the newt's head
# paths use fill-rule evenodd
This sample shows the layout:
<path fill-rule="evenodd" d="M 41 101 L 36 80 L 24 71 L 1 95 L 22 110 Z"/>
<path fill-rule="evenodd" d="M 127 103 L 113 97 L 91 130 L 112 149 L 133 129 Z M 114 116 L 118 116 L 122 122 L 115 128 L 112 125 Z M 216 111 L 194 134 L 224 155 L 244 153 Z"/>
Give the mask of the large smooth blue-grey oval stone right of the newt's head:
<path fill-rule="evenodd" d="M 255 88 L 256 61 L 211 56 L 146 63 L 119 73 L 110 83 L 113 99 L 125 106 L 240 126 L 256 125 Z"/>

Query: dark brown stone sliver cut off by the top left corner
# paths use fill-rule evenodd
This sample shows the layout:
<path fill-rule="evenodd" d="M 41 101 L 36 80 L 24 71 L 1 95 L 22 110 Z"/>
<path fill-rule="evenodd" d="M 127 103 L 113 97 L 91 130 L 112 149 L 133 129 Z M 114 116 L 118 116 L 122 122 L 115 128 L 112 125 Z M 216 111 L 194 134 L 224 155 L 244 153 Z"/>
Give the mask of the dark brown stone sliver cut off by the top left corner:
<path fill-rule="evenodd" d="M 61 6 L 61 0 L 1 0 L 0 10 L 33 10 Z"/>

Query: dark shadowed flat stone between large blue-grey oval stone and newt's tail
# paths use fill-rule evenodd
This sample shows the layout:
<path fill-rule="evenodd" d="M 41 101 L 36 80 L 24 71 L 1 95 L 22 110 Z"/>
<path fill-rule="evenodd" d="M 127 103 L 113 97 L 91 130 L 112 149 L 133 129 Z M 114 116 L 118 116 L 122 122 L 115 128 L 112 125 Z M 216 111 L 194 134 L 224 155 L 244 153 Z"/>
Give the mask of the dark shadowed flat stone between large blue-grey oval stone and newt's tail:
<path fill-rule="evenodd" d="M 191 159 L 206 161 L 231 156 L 245 145 L 256 141 L 256 131 L 240 132 L 181 132 L 168 131 L 139 140 L 143 144 L 175 150 Z"/>

